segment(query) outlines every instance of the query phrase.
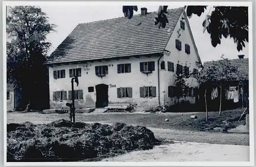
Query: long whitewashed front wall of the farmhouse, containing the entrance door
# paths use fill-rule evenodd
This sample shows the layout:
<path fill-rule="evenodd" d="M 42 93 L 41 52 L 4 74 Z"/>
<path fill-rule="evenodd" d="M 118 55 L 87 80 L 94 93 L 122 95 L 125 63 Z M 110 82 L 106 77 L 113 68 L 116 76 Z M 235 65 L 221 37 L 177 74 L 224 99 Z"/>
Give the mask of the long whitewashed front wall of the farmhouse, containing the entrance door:
<path fill-rule="evenodd" d="M 49 67 L 49 82 L 50 82 L 50 107 L 61 108 L 66 107 L 67 102 L 70 100 L 53 101 L 54 91 L 71 91 L 71 78 L 69 77 L 69 69 L 81 68 L 81 77 L 79 79 L 79 85 L 76 87 L 74 83 L 74 90 L 83 90 L 83 100 L 75 100 L 76 108 L 79 107 L 95 107 L 96 102 L 96 90 L 95 86 L 98 84 L 109 85 L 109 103 L 111 102 L 129 102 L 137 104 L 137 110 L 142 110 L 148 106 L 158 105 L 158 74 L 157 74 L 157 60 L 159 57 L 140 57 L 130 58 L 124 60 L 112 60 L 102 62 L 92 62 L 87 64 L 77 65 L 62 65 Z M 155 71 L 148 74 L 140 72 L 140 62 L 155 62 Z M 131 73 L 117 73 L 117 64 L 131 63 Z M 108 65 L 108 75 L 102 78 L 95 75 L 95 66 Z M 53 78 L 54 70 L 66 70 L 65 78 Z M 110 87 L 110 85 L 116 85 L 116 87 Z M 139 88 L 143 86 L 156 87 L 156 97 L 154 98 L 140 98 Z M 88 92 L 88 87 L 94 87 L 94 92 Z M 132 87 L 132 98 L 117 98 L 117 88 L 120 87 Z"/>

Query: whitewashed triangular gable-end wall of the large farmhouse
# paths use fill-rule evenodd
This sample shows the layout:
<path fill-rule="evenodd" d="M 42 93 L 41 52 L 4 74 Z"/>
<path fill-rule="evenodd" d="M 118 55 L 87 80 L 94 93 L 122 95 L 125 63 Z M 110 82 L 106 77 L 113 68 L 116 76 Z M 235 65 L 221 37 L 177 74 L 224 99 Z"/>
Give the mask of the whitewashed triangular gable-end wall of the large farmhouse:
<path fill-rule="evenodd" d="M 177 100 L 176 97 L 170 98 L 168 97 L 168 86 L 175 86 L 175 73 L 176 73 L 176 67 L 177 63 L 184 66 L 187 64 L 189 66 L 189 71 L 193 71 L 194 68 L 198 68 L 198 65 L 196 62 L 199 62 L 197 52 L 195 45 L 193 44 L 193 39 L 189 33 L 189 27 L 188 22 L 185 18 L 185 15 L 181 15 L 179 18 L 179 21 L 177 22 L 175 29 L 172 33 L 172 36 L 170 37 L 170 40 L 168 41 L 165 50 L 170 51 L 170 54 L 164 54 L 164 61 L 165 61 L 165 69 L 162 70 L 162 76 L 161 81 L 164 82 L 164 84 L 161 85 L 161 90 L 165 90 L 165 104 L 166 105 L 173 105 L 175 104 L 175 101 Z M 185 22 L 185 30 L 181 29 L 180 26 L 180 20 L 183 20 Z M 180 29 L 180 31 L 179 31 Z M 178 33 L 179 31 L 179 33 Z M 180 34 L 180 36 L 179 36 Z M 176 39 L 180 40 L 182 42 L 182 50 L 179 51 L 176 49 Z M 187 54 L 185 52 L 185 44 L 188 44 L 190 46 L 190 54 Z M 174 63 L 174 72 L 167 70 L 167 61 Z M 198 84 L 194 78 L 187 79 L 187 83 L 189 87 L 197 87 Z M 184 97 L 179 100 L 185 100 L 189 101 L 190 103 L 195 103 L 195 97 Z"/>

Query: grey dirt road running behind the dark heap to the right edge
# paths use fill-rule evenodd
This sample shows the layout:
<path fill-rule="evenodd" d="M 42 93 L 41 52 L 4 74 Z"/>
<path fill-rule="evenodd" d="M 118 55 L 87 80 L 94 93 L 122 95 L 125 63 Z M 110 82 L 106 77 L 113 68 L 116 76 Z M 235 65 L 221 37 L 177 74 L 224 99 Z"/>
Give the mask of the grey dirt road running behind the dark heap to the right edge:
<path fill-rule="evenodd" d="M 136 116 L 135 114 L 133 114 Z M 174 113 L 168 114 L 168 117 L 171 119 L 172 116 L 176 116 Z M 99 117 L 112 118 L 112 119 L 103 119 L 99 121 Z M 112 117 L 111 117 L 112 116 Z M 99 122 L 105 124 L 112 124 L 117 122 L 114 116 L 119 117 L 119 122 L 124 122 L 131 125 L 141 125 L 140 122 L 130 121 L 129 117 L 132 117 L 129 114 L 100 114 L 100 115 L 91 115 L 91 114 L 77 114 L 76 120 L 83 122 Z M 133 117 L 134 117 L 133 116 Z M 147 117 L 145 115 L 144 117 Z M 157 117 L 157 115 L 154 117 Z M 56 121 L 59 119 L 68 119 L 68 114 L 38 114 L 38 113 L 8 113 L 7 114 L 7 123 L 23 123 L 26 121 L 35 123 L 35 124 L 44 124 Z M 121 119 L 122 118 L 122 119 Z M 156 118 L 157 119 L 157 118 Z M 149 124 L 150 125 L 150 124 Z M 188 131 L 188 130 L 175 130 L 175 129 L 163 129 L 156 128 L 155 125 L 146 126 L 151 129 L 156 138 L 163 138 L 165 140 L 173 141 L 182 141 L 182 142 L 197 142 L 197 143 L 209 143 L 209 144 L 224 144 L 224 145 L 244 145 L 249 146 L 249 134 L 238 134 L 238 133 L 218 133 L 218 132 L 202 132 L 202 131 Z"/>

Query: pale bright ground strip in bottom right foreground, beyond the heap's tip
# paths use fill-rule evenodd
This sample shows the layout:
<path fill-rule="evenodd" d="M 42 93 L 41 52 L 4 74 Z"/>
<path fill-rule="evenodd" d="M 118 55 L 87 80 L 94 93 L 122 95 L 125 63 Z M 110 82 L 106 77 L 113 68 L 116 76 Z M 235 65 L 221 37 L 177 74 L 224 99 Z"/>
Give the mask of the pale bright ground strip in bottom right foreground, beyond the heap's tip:
<path fill-rule="evenodd" d="M 102 161 L 249 161 L 248 146 L 179 142 L 133 151 Z"/>

